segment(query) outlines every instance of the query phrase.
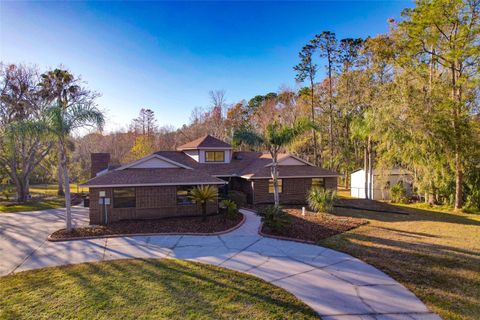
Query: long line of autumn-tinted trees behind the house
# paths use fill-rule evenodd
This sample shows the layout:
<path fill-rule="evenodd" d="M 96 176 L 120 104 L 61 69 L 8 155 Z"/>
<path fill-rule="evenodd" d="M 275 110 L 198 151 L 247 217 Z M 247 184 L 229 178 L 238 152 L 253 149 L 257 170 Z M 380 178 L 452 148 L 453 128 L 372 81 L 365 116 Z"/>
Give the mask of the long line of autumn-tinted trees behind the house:
<path fill-rule="evenodd" d="M 227 102 L 224 91 L 211 91 L 210 105 L 194 109 L 180 128 L 158 126 L 154 112 L 142 108 L 126 129 L 69 136 L 64 144 L 72 177 L 89 178 L 90 152 L 109 152 L 113 162 L 124 163 L 207 133 L 232 141 L 238 131 L 265 133 L 272 124 L 293 126 L 308 118 L 308 132 L 283 149 L 342 173 L 346 186 L 356 169 L 372 175 L 374 168 L 401 167 L 413 173 L 416 193 L 425 201 L 479 207 L 479 11 L 478 0 L 419 1 L 400 21 L 390 20 L 386 34 L 338 39 L 334 32 L 320 32 L 292 61 L 296 88 L 235 103 Z M 38 77 L 25 66 L 2 67 L 2 128 L 15 117 L 36 119 L 52 101 L 67 110 L 95 104 L 98 94 L 79 78 L 51 72 Z M 31 97 L 25 95 L 30 91 Z M 22 157 L 35 162 L 16 170 L 53 179 L 60 172 L 59 142 L 25 139 L 16 150 L 25 148 Z M 12 152 L 2 148 L 2 155 Z M 12 178 L 12 166 L 1 159 L 0 174 Z"/>

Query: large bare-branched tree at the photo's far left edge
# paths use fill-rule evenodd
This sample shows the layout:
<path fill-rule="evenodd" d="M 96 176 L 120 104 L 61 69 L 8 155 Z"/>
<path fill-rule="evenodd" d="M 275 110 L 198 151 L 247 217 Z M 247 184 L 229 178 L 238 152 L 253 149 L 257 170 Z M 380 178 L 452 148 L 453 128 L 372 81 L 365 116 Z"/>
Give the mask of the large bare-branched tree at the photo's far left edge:
<path fill-rule="evenodd" d="M 13 181 L 17 200 L 28 199 L 30 176 L 50 151 L 36 68 L 0 65 L 0 168 Z"/>

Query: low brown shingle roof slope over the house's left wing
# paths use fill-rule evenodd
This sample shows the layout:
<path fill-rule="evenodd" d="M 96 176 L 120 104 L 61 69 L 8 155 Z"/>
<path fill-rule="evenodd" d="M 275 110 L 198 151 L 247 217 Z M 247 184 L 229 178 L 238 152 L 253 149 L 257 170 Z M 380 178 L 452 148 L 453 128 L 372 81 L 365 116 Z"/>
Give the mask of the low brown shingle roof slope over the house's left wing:
<path fill-rule="evenodd" d="M 113 170 L 97 176 L 83 186 L 133 186 L 133 185 L 188 185 L 221 184 L 225 181 L 212 177 L 202 170 L 184 168 L 168 169 L 124 169 Z"/>

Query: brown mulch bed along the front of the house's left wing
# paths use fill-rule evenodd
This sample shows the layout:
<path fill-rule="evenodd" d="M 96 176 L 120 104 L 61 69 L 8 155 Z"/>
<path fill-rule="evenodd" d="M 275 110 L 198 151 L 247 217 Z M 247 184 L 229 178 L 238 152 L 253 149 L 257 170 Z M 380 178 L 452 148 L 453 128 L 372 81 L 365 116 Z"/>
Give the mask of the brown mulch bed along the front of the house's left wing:
<path fill-rule="evenodd" d="M 110 235 L 148 234 L 148 233 L 216 233 L 229 230 L 243 220 L 238 213 L 233 219 L 225 219 L 224 215 L 209 216 L 207 221 L 202 217 L 179 217 L 151 220 L 125 220 L 113 222 L 108 226 L 89 226 L 74 228 L 71 232 L 60 229 L 52 233 L 51 240 L 68 240 L 72 238 L 91 238 Z"/>

